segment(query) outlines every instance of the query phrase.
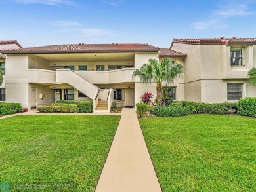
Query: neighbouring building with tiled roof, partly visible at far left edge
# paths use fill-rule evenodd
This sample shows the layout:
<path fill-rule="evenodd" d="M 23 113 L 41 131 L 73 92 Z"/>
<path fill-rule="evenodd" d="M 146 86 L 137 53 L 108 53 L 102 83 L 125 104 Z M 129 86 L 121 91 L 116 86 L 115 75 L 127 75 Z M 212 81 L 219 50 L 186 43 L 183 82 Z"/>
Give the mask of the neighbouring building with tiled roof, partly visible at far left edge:
<path fill-rule="evenodd" d="M 5 102 L 5 54 L 4 50 L 12 48 L 21 48 L 22 46 L 16 40 L 0 41 L 0 67 L 3 70 L 3 83 L 0 85 L 0 102 Z"/>

